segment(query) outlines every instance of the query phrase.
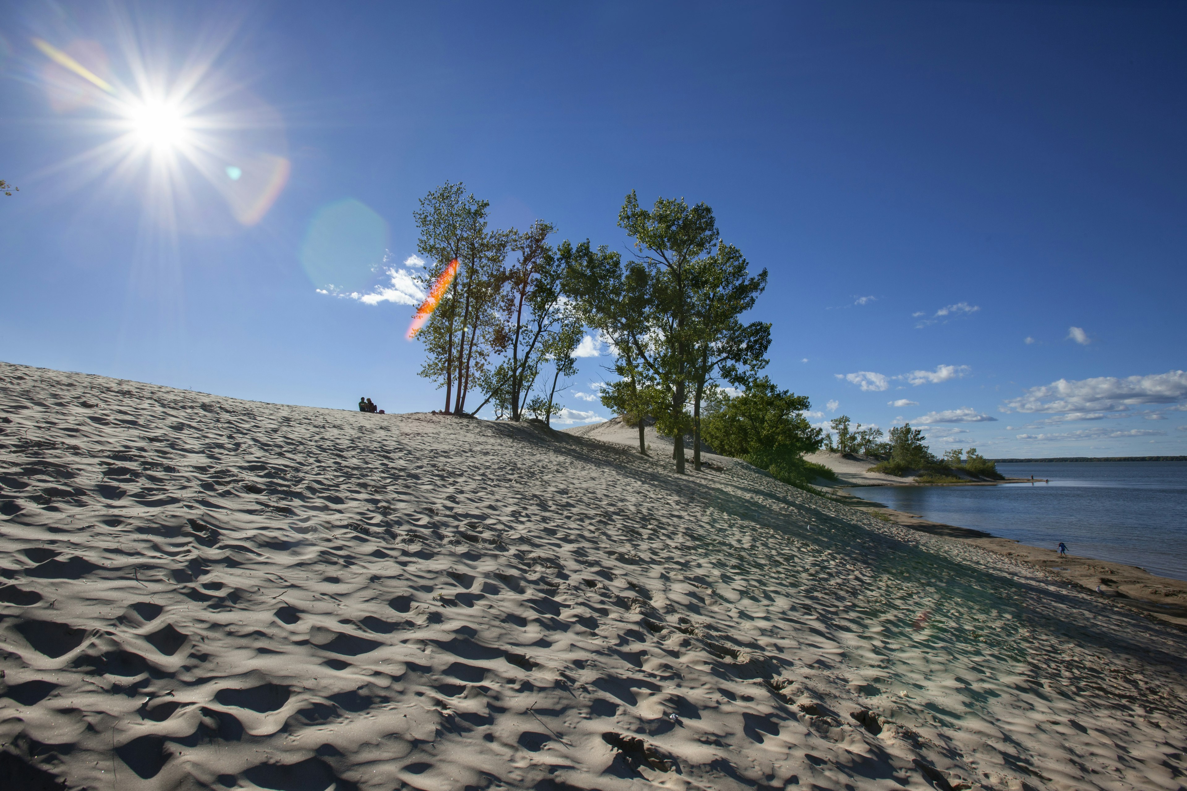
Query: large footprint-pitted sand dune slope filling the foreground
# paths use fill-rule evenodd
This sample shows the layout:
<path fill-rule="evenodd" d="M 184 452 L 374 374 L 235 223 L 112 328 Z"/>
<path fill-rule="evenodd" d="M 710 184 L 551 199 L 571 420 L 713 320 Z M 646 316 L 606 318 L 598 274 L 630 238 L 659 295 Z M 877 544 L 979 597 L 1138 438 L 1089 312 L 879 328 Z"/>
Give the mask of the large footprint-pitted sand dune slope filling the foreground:
<path fill-rule="evenodd" d="M 735 461 L 0 364 L 6 787 L 1181 789 L 1181 632 Z"/>

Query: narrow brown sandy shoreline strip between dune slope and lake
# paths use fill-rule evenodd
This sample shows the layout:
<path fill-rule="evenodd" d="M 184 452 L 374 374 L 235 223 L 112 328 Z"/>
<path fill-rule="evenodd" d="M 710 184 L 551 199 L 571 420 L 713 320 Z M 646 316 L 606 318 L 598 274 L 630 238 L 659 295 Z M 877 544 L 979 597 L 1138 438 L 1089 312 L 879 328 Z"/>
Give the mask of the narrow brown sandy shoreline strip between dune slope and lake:
<path fill-rule="evenodd" d="M 1026 479 L 1029 481 L 1029 479 Z M 996 481 L 1005 483 L 1005 481 Z M 908 484 L 920 485 L 920 484 Z M 926 484 L 923 484 L 926 485 Z M 959 485 L 959 484 L 950 484 Z M 977 485 L 977 484 L 973 484 Z M 1138 566 L 1115 561 L 1060 556 L 1054 549 L 1032 547 L 1015 538 L 1001 538 L 984 530 L 932 522 L 913 513 L 886 508 L 849 492 L 833 490 L 832 497 L 875 518 L 920 532 L 954 538 L 997 555 L 1022 561 L 1047 574 L 1113 602 L 1187 631 L 1187 581 L 1150 574 Z"/>

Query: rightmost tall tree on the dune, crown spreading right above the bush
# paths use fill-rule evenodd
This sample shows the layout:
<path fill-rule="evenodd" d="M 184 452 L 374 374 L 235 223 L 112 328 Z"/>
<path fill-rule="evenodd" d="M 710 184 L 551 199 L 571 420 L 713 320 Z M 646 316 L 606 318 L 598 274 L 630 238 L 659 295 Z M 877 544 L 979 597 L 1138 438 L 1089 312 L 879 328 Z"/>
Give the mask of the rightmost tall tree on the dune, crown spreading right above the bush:
<path fill-rule="evenodd" d="M 767 287 L 767 270 L 751 278 L 747 260 L 732 244 L 718 243 L 717 251 L 693 268 L 690 336 L 693 359 L 688 374 L 693 387 L 692 466 L 700 471 L 700 404 L 705 387 L 719 374 L 730 384 L 745 384 L 753 371 L 766 368 L 770 325 L 742 324 L 740 315 L 754 307 Z"/>

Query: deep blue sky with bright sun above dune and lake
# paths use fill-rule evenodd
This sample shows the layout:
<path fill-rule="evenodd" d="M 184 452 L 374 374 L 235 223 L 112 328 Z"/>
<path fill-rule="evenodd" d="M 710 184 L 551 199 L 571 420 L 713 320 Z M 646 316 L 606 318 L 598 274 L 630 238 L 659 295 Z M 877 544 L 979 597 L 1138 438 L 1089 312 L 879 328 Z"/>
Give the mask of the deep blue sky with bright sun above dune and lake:
<path fill-rule="evenodd" d="M 446 179 L 618 249 L 634 189 L 769 270 L 767 372 L 813 421 L 1187 453 L 1181 2 L 243 6 L 0 13 L 0 358 L 438 408 L 413 308 L 315 281 L 391 287 Z M 171 172 L 129 116 L 183 84 L 210 145 Z"/>

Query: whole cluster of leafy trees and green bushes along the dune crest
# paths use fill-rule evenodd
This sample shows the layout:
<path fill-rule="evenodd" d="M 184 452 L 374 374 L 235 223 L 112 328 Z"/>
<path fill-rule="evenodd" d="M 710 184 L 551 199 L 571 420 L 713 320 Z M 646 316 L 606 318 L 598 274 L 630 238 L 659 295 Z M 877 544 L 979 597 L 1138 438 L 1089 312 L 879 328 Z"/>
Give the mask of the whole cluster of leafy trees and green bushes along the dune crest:
<path fill-rule="evenodd" d="M 601 401 L 637 426 L 640 453 L 654 422 L 673 438 L 680 473 L 686 436 L 696 470 L 707 441 L 789 483 L 827 473 L 802 461 L 823 441 L 802 415 L 807 397 L 758 376 L 770 325 L 742 317 L 766 288 L 767 270 L 750 273 L 706 204 L 659 198 L 645 208 L 631 192 L 618 212 L 633 247 L 627 256 L 589 240 L 553 245 L 556 229 L 542 221 L 493 230 L 488 210 L 446 183 L 414 212 L 418 250 L 429 260 L 421 285 L 458 261 L 418 333 L 426 351 L 420 375 L 445 390 L 445 413 L 474 415 L 489 403 L 496 419 L 548 422 L 563 409 L 557 394 L 576 374 L 589 328 L 612 357 Z"/>

